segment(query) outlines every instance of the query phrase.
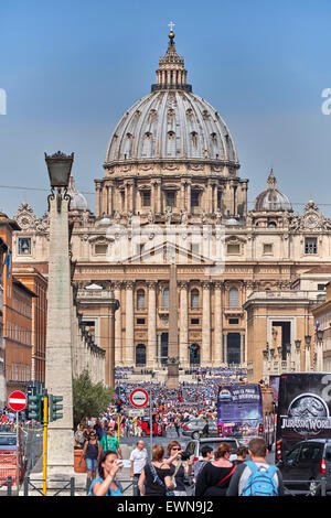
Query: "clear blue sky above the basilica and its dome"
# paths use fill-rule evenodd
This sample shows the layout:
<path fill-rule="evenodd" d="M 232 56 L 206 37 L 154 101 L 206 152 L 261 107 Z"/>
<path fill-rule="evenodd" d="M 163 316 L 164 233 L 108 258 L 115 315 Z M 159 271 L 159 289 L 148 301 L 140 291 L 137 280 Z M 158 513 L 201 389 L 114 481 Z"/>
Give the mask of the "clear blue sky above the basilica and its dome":
<path fill-rule="evenodd" d="M 273 166 L 296 212 L 312 198 L 331 217 L 331 115 L 321 110 L 331 88 L 329 0 L 2 2 L 1 211 L 12 216 L 28 201 L 45 212 L 44 152 L 57 150 L 74 151 L 76 185 L 94 211 L 111 131 L 150 91 L 171 20 L 188 82 L 234 137 L 248 201 Z"/>

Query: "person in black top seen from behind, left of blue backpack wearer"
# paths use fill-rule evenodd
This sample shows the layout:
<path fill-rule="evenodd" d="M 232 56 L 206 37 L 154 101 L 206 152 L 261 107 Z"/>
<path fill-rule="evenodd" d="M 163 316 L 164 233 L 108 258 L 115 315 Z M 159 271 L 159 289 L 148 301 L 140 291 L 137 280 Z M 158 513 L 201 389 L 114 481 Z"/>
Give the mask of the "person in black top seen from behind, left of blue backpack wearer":
<path fill-rule="evenodd" d="M 229 462 L 231 445 L 221 443 L 214 454 L 215 460 L 205 464 L 201 470 L 196 484 L 195 496 L 225 496 L 237 466 Z"/>

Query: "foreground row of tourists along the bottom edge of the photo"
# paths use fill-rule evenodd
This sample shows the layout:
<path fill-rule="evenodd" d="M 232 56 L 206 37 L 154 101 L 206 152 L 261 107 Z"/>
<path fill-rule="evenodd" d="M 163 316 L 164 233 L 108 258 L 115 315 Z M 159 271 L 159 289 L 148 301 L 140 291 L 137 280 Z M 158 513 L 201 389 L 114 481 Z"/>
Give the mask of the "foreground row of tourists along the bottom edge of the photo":
<path fill-rule="evenodd" d="M 237 458 L 229 461 L 231 445 L 220 443 L 213 451 L 205 446 L 203 458 L 193 464 L 186 458 L 178 441 L 171 441 L 167 451 L 156 444 L 148 458 L 142 440 L 137 442 L 130 455 L 130 475 L 136 478 L 136 496 L 282 496 L 284 483 L 276 466 L 266 461 L 268 453 L 264 439 L 256 438 L 248 449 L 241 446 Z M 249 460 L 246 457 L 249 455 Z M 102 450 L 90 487 L 90 496 L 121 496 L 118 473 L 122 467 L 120 453 Z M 193 486 L 193 490 L 192 490 Z"/>

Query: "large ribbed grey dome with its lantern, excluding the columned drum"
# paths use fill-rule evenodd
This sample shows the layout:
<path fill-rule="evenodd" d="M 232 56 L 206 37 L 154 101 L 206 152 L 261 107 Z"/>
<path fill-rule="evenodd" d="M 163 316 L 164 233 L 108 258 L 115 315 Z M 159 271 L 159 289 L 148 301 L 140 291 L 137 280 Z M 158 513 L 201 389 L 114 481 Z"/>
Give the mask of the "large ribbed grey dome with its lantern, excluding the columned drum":
<path fill-rule="evenodd" d="M 157 84 L 118 122 L 105 162 L 211 159 L 237 163 L 225 122 L 209 102 L 192 94 L 172 32 L 169 39 L 168 51 L 160 57 Z"/>

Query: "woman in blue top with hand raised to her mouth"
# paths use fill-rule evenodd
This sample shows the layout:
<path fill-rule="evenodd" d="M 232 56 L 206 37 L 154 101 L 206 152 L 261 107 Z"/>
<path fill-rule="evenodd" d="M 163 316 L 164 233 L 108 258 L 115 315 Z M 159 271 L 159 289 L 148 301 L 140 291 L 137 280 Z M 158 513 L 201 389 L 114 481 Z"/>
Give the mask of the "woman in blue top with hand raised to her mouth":
<path fill-rule="evenodd" d="M 122 462 L 116 452 L 103 452 L 98 462 L 98 477 L 89 486 L 89 496 L 122 496 L 116 483 L 116 474 L 122 467 Z"/>

